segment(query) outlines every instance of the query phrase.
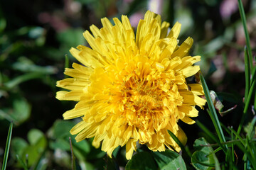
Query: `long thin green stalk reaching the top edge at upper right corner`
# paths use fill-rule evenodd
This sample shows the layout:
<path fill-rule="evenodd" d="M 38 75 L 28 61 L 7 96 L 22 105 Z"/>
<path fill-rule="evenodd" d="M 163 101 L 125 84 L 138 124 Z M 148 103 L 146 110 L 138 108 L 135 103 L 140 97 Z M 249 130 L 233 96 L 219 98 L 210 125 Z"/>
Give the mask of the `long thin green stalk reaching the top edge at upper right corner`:
<path fill-rule="evenodd" d="M 250 71 L 252 72 L 252 69 L 253 69 L 252 49 L 250 47 L 250 37 L 249 37 L 249 33 L 248 33 L 248 30 L 247 30 L 247 26 L 246 26 L 245 10 L 242 6 L 242 0 L 238 0 L 238 7 L 239 7 L 240 16 L 241 16 L 241 19 L 242 19 L 242 26 L 243 26 L 244 31 L 245 31 L 245 41 L 246 41 L 246 46 L 248 48 Z"/>

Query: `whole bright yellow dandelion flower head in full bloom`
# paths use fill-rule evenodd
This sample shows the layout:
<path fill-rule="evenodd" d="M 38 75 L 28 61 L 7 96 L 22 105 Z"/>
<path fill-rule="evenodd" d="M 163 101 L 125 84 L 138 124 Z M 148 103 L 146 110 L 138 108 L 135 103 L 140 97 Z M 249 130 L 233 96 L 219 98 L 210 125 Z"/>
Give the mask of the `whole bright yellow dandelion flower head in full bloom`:
<path fill-rule="evenodd" d="M 193 64 L 201 57 L 188 55 L 193 39 L 178 46 L 181 23 L 167 34 L 169 23 L 161 23 L 161 16 L 151 11 L 139 21 L 136 36 L 127 16 L 113 21 L 114 26 L 102 18 L 101 29 L 92 25 L 92 34 L 83 33 L 91 48 L 71 48 L 81 64 L 66 68 L 64 74 L 72 78 L 57 82 L 68 91 L 58 91 L 56 98 L 78 101 L 63 114 L 65 120 L 82 118 L 70 133 L 77 135 L 77 142 L 94 137 L 92 145 L 102 143 L 110 157 L 115 148 L 126 145 L 131 159 L 137 142 L 152 151 L 179 151 L 167 130 L 186 143 L 178 120 L 195 123 L 190 118 L 198 116 L 195 106 L 206 103 L 199 97 L 201 84 L 186 82 L 200 70 Z"/>

